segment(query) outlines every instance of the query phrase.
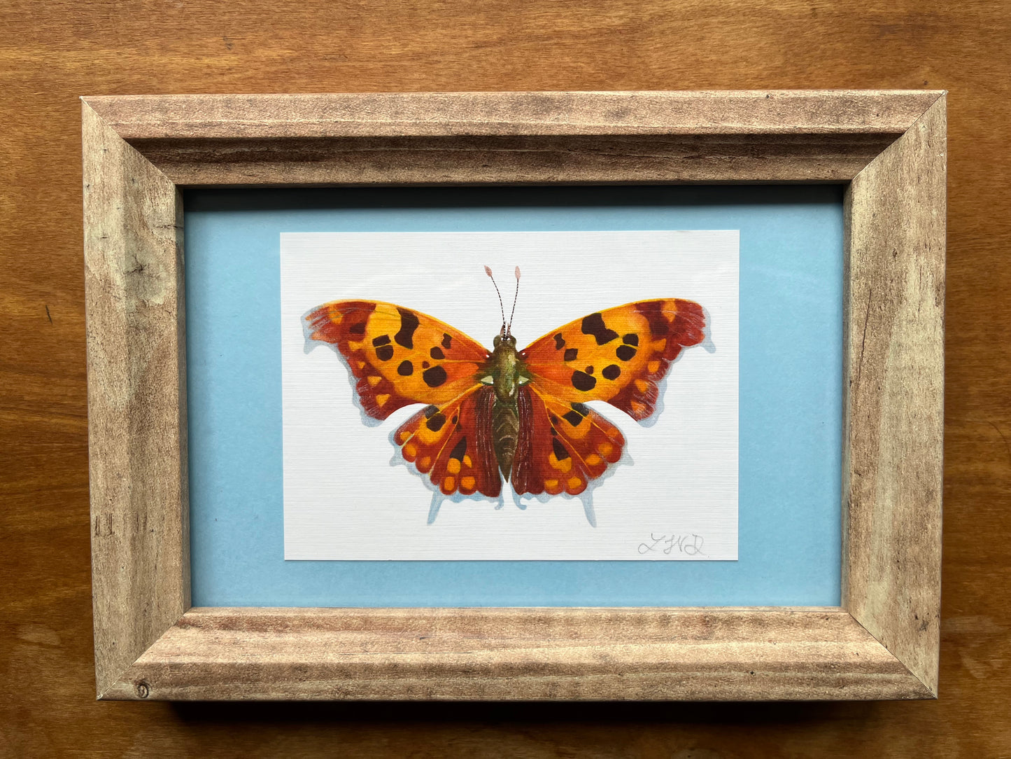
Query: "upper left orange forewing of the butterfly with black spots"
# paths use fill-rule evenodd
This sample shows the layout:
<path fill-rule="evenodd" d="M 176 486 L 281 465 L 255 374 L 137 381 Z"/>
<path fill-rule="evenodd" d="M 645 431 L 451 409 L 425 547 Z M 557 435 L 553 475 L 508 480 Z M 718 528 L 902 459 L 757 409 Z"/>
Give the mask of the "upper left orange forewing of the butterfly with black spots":
<path fill-rule="evenodd" d="M 412 403 L 446 404 L 479 386 L 489 353 L 435 317 L 377 301 L 335 301 L 304 318 L 310 340 L 337 346 L 365 413 L 385 419 Z"/>

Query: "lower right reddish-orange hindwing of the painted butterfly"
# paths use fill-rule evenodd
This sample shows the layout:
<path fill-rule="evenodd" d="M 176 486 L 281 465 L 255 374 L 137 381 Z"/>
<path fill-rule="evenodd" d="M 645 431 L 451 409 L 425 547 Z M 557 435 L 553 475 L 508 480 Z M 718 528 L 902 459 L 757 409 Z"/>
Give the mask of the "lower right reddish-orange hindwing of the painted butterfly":
<path fill-rule="evenodd" d="M 622 456 L 625 437 L 580 403 L 544 396 L 533 384 L 520 388 L 520 434 L 511 480 L 517 493 L 582 493 L 590 480 Z"/>

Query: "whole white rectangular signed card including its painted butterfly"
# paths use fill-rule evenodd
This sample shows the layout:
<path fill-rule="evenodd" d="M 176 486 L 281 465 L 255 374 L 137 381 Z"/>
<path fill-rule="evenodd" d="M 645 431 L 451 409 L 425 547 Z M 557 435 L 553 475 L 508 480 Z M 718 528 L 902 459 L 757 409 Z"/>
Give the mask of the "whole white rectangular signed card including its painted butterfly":
<path fill-rule="evenodd" d="M 738 235 L 281 236 L 295 560 L 737 552 Z"/>

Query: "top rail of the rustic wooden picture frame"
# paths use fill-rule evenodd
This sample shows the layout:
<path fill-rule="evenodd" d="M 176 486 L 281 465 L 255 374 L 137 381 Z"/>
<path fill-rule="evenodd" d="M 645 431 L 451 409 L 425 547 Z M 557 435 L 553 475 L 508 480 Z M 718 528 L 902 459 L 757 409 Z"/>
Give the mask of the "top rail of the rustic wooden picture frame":
<path fill-rule="evenodd" d="M 188 187 L 627 184 L 849 181 L 937 95 L 440 92 L 84 102 Z"/>

